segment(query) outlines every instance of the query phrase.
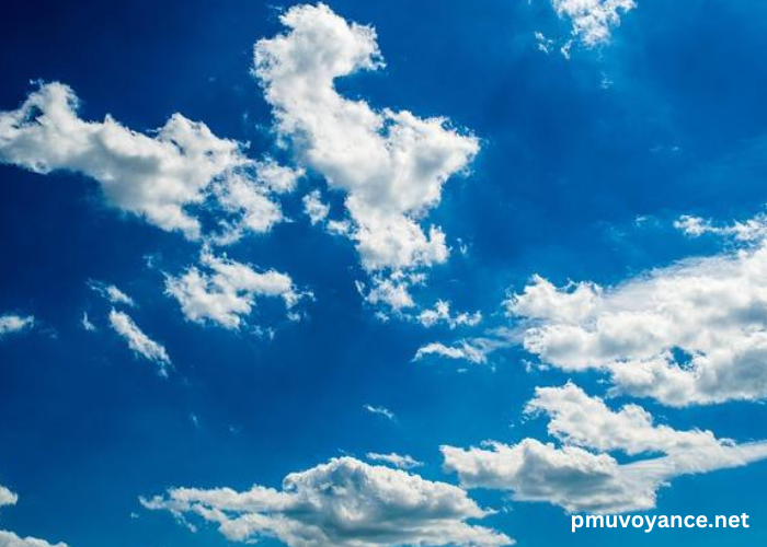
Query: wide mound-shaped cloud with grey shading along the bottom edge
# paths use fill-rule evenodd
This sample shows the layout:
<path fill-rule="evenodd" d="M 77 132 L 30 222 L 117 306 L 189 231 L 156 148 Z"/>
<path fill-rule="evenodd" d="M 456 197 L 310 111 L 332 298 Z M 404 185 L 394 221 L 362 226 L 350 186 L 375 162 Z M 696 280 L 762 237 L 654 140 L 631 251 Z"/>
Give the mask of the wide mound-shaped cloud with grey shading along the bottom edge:
<path fill-rule="evenodd" d="M 282 490 L 178 488 L 142 500 L 179 519 L 215 523 L 233 542 L 274 537 L 290 547 L 492 547 L 513 542 L 468 524 L 490 514 L 463 490 L 351 457 L 288 475 Z"/>

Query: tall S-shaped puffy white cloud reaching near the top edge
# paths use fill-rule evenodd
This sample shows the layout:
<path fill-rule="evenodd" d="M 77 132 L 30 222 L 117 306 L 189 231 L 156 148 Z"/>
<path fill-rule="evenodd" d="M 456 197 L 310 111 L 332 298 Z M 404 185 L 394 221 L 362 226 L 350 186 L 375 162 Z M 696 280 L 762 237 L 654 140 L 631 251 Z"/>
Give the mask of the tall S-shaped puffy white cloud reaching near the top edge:
<path fill-rule="evenodd" d="M 445 234 L 421 220 L 445 182 L 467 168 L 478 140 L 445 118 L 377 110 L 337 93 L 334 81 L 384 66 L 373 27 L 348 23 L 324 4 L 281 16 L 285 34 L 259 40 L 255 74 L 281 138 L 302 165 L 345 195 L 368 271 L 427 267 L 447 259 Z"/>

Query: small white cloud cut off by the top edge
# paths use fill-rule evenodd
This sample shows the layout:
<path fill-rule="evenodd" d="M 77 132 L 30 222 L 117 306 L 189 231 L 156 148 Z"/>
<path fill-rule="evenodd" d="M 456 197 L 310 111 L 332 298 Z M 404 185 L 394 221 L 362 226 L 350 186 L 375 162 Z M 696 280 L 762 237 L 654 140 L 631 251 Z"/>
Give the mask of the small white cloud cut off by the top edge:
<path fill-rule="evenodd" d="M 573 35 L 588 47 L 609 42 L 621 12 L 637 8 L 633 0 L 551 0 L 551 5 L 572 21 Z"/>

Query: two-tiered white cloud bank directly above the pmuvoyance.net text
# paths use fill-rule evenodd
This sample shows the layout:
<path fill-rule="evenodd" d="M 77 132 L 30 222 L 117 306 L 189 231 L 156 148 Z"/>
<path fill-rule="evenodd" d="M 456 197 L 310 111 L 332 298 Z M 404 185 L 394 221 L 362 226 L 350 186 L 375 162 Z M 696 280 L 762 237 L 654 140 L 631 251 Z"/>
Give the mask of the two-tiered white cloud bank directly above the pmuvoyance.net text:
<path fill-rule="evenodd" d="M 653 509 L 659 489 L 675 477 L 767 457 L 767 442 L 739 445 L 710 432 L 654 426 L 644 409 L 628 405 L 613 411 L 573 385 L 538 389 L 528 409 L 551 417 L 549 431 L 564 443 L 561 447 L 535 439 L 443 446 L 445 468 L 467 488 L 506 490 L 516 500 L 549 502 L 569 512 L 621 513 Z M 591 450 L 663 455 L 619 463 Z"/>

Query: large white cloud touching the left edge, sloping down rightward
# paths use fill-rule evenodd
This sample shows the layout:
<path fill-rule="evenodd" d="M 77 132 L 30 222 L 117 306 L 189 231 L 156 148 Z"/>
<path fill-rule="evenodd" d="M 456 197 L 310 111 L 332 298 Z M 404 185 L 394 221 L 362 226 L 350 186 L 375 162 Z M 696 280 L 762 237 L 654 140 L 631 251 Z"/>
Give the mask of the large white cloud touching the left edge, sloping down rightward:
<path fill-rule="evenodd" d="M 238 143 L 180 114 L 149 137 L 110 116 L 84 121 L 78 106 L 69 86 L 42 84 L 18 109 L 0 114 L 0 161 L 35 173 L 82 173 L 119 209 L 191 237 L 199 223 L 184 207 L 202 202 L 213 178 L 245 163 Z"/>

